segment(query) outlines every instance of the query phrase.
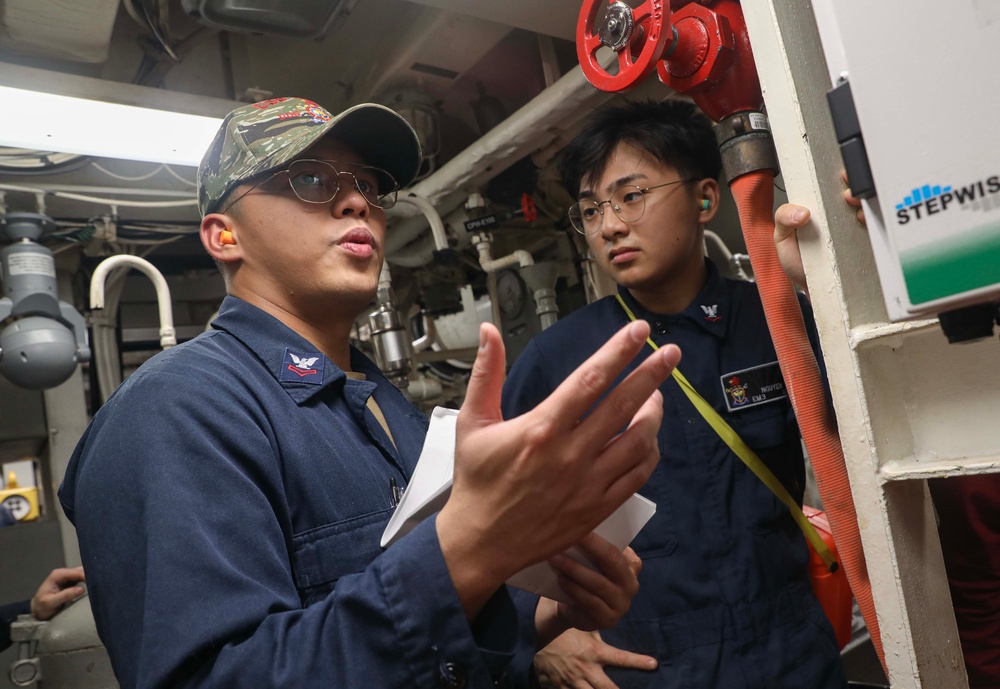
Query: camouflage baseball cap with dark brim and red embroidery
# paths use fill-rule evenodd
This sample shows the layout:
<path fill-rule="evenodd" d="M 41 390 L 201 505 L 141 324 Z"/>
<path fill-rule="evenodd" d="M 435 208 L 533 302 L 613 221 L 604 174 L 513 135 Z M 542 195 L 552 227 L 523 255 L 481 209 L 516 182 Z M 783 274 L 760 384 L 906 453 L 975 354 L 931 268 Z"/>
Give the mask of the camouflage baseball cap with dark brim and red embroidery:
<path fill-rule="evenodd" d="M 400 187 L 416 177 L 420 142 L 394 110 L 375 103 L 348 108 L 336 117 L 302 98 L 271 98 L 226 115 L 198 166 L 202 215 L 240 182 L 281 167 L 330 133 L 367 163 L 391 174 Z"/>

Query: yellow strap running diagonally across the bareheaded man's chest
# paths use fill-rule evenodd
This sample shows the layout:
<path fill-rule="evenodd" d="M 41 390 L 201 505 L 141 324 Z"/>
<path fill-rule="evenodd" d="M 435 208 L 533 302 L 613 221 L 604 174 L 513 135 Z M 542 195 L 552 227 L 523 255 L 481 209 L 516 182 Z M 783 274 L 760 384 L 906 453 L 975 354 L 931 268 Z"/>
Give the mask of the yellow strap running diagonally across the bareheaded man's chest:
<path fill-rule="evenodd" d="M 635 320 L 635 314 L 632 310 L 625 304 L 625 300 L 622 299 L 620 294 L 616 294 L 615 298 L 621 307 L 628 314 L 629 320 Z M 646 342 L 654 350 L 659 349 L 657 344 L 653 342 L 652 338 L 646 338 Z M 698 391 L 694 389 L 694 386 L 688 382 L 688 379 L 684 377 L 684 374 L 680 372 L 679 369 L 674 369 L 673 377 L 677 383 L 681 386 L 681 390 L 687 395 L 688 399 L 691 400 L 691 404 L 695 406 L 708 424 L 715 429 L 715 432 L 719 434 L 722 441 L 729 446 L 729 449 L 736 453 L 736 456 L 743 460 L 743 463 L 756 474 L 765 486 L 771 489 L 771 492 L 777 496 L 781 502 L 785 503 L 789 510 L 792 512 L 792 517 L 795 519 L 795 523 L 799 525 L 802 529 L 802 533 L 805 535 L 806 540 L 812 545 L 813 549 L 819 553 L 820 558 L 823 560 L 823 564 L 826 568 L 831 571 L 837 571 L 837 561 L 833 557 L 833 553 L 830 549 L 826 547 L 826 543 L 817 533 L 816 528 L 809 521 L 809 518 L 802 512 L 802 508 L 799 504 L 795 502 L 795 499 L 789 495 L 788 491 L 785 490 L 785 486 L 778 480 L 774 473 L 767 468 L 767 465 L 757 456 L 757 453 L 750 449 L 750 446 L 743 442 L 743 438 L 733 430 L 732 426 L 726 423 L 726 420 L 719 416 L 719 413 L 708 402 L 705 398 L 698 394 Z"/>

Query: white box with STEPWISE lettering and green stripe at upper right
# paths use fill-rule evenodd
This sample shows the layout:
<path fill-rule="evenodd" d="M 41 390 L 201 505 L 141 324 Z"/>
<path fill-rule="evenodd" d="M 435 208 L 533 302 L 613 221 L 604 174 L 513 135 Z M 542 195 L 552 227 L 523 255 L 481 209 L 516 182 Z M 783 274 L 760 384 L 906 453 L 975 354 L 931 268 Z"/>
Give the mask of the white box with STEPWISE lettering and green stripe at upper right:
<path fill-rule="evenodd" d="M 814 12 L 867 151 L 890 319 L 1000 299 L 1000 0 L 815 0 Z"/>

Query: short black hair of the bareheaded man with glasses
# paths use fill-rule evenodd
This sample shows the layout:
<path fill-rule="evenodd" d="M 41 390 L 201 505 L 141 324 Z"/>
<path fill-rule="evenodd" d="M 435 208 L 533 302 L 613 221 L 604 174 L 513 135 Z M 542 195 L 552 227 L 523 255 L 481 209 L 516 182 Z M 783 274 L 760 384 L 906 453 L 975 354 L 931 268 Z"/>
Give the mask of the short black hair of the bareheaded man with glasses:
<path fill-rule="evenodd" d="M 619 144 L 647 151 L 682 177 L 718 179 L 722 156 L 712 121 L 687 101 L 628 101 L 598 109 L 563 149 L 559 174 L 576 198 L 585 180 L 604 174 Z"/>

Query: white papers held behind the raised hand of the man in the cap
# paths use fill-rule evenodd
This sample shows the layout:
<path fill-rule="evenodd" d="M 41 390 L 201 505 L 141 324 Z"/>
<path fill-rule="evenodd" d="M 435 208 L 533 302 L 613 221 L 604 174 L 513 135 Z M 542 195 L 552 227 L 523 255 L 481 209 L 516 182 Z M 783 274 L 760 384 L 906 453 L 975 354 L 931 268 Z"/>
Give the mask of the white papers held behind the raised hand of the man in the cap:
<path fill-rule="evenodd" d="M 430 427 L 413 476 L 382 533 L 383 548 L 408 534 L 448 501 L 455 474 L 457 419 L 458 412 L 454 409 L 435 407 L 431 412 Z M 624 550 L 655 512 L 656 504 L 636 493 L 594 529 L 594 532 L 616 548 Z M 566 555 L 589 566 L 578 548 L 570 548 Z M 507 583 L 546 598 L 568 602 L 566 594 L 559 588 L 555 570 L 547 562 L 526 567 Z"/>

